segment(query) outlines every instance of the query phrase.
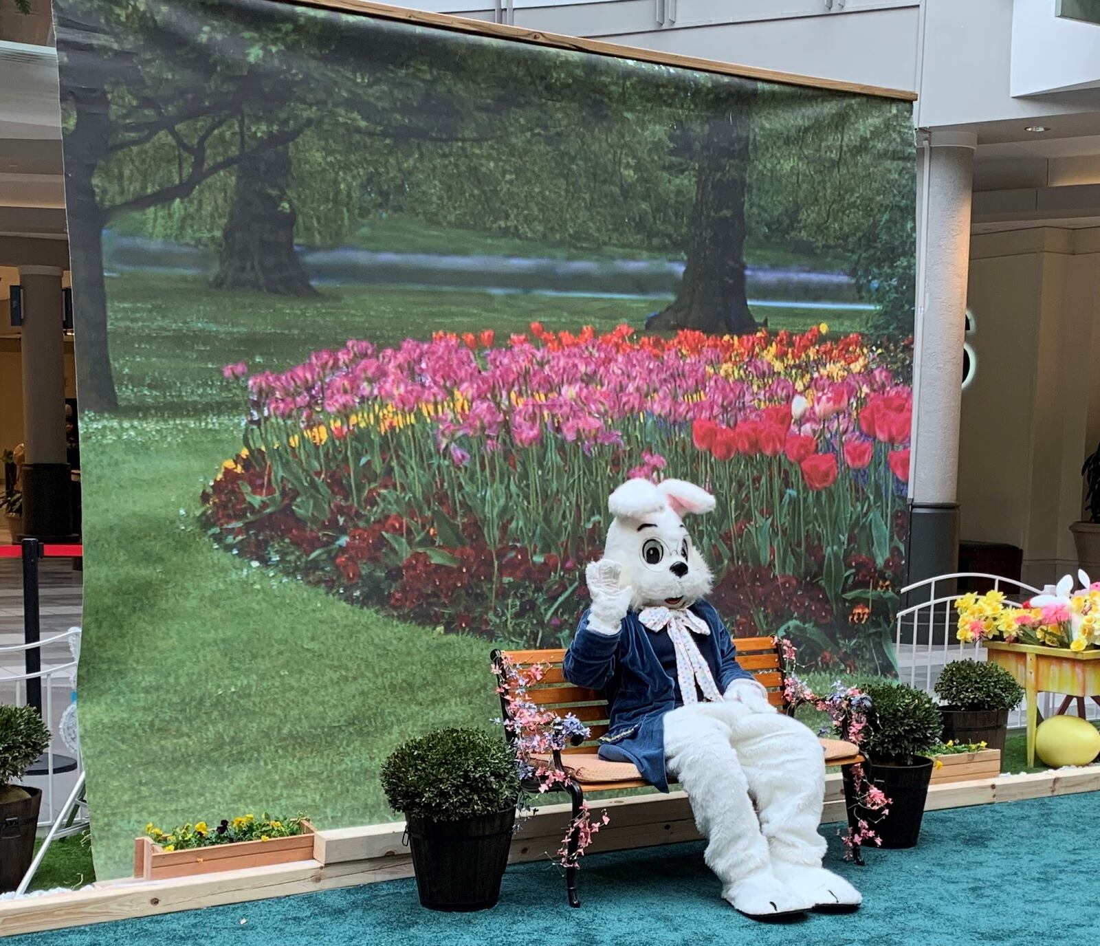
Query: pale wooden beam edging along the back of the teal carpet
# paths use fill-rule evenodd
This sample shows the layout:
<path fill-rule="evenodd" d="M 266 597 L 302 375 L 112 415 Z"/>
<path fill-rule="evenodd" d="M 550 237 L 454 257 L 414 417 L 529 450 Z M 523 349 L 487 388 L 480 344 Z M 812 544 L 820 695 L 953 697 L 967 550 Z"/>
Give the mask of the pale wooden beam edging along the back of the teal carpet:
<path fill-rule="evenodd" d="M 1094 791 L 1100 791 L 1100 766 L 1002 774 L 930 785 L 925 810 L 943 811 Z M 683 792 L 593 800 L 592 807 L 597 812 L 606 809 L 612 816 L 610 824 L 596 836 L 590 849 L 592 853 L 678 844 L 700 836 Z M 840 777 L 831 773 L 826 779 L 822 823 L 842 822 L 844 817 Z M 517 833 L 509 860 L 521 862 L 553 857 L 568 818 L 565 804 L 539 806 Z M 391 822 L 319 831 L 314 845 L 315 859 L 306 862 L 170 880 L 130 878 L 70 893 L 0 901 L 0 938 L 411 877 L 408 849 L 402 845 L 404 829 L 403 822 Z"/>

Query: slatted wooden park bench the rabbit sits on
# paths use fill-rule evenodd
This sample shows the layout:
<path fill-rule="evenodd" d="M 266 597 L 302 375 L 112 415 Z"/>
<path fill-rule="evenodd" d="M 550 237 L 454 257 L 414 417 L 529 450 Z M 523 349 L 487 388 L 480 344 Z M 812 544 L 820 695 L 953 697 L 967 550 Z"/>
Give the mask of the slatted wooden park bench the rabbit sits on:
<path fill-rule="evenodd" d="M 734 647 L 737 651 L 737 662 L 745 670 L 750 671 L 757 682 L 768 689 L 768 698 L 771 704 L 783 712 L 793 713 L 783 697 L 783 664 L 780 660 L 779 641 L 773 637 L 738 637 L 734 638 Z M 584 803 L 585 792 L 642 789 L 647 788 L 649 782 L 630 762 L 612 762 L 598 758 L 596 752 L 600 748 L 600 737 L 607 732 L 607 697 L 598 690 L 587 690 L 569 683 L 561 669 L 564 657 L 563 649 L 494 650 L 493 666 L 501 667 L 503 659 L 517 670 L 534 664 L 546 667 L 547 670 L 541 680 L 527 688 L 528 697 L 534 703 L 560 715 L 572 713 L 590 728 L 591 733 L 586 741 L 561 751 L 554 751 L 552 759 L 544 760 L 568 777 L 561 789 L 556 787 L 553 791 L 569 792 L 573 803 L 572 820 L 575 823 Z M 498 683 L 503 684 L 504 680 L 499 679 Z M 503 695 L 501 708 L 507 716 L 508 704 Z M 509 741 L 515 738 L 515 734 L 509 729 L 506 728 L 505 732 L 508 734 Z M 864 757 L 859 755 L 858 748 L 851 743 L 838 739 L 822 739 L 821 741 L 825 751 L 826 765 L 839 767 L 844 773 L 848 823 L 855 827 L 855 793 L 851 790 L 850 767 L 862 762 Z M 538 787 L 532 784 L 525 785 L 525 788 L 534 791 Z M 566 860 L 570 866 L 565 868 L 565 890 L 571 906 L 581 905 L 576 895 L 576 866 L 574 862 L 576 847 L 576 832 L 572 831 L 566 843 Z M 858 846 L 854 848 L 854 856 L 857 864 L 864 862 Z"/>

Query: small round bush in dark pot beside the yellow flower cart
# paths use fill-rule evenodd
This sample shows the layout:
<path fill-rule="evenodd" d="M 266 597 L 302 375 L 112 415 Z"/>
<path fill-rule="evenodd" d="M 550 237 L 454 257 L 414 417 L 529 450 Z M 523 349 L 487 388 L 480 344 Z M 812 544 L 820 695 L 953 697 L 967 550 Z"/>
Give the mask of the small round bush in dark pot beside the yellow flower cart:
<path fill-rule="evenodd" d="M 985 743 L 1004 750 L 1009 711 L 1024 698 L 1024 689 L 1003 667 L 987 661 L 954 660 L 936 681 L 936 695 L 944 701 L 944 739 Z"/>

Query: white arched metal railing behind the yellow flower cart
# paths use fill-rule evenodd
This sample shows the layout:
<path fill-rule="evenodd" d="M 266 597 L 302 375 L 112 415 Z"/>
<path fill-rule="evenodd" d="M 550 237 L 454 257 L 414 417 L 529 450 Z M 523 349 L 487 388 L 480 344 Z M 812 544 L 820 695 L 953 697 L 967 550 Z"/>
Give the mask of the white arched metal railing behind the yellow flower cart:
<path fill-rule="evenodd" d="M 898 612 L 894 630 L 894 653 L 898 658 L 898 675 L 903 683 L 933 693 L 941 671 L 954 660 L 986 660 L 988 651 L 979 641 L 960 644 L 955 637 L 957 618 L 955 602 L 966 592 L 956 591 L 959 579 L 986 579 L 992 582 L 994 591 L 1002 591 L 1005 602 L 1020 606 L 1032 595 L 1043 594 L 1043 588 L 1033 587 L 1014 579 L 992 575 L 986 572 L 955 572 L 933 579 L 914 582 L 901 590 L 902 600 L 912 593 L 923 593 L 924 601 Z M 1062 702 L 1060 694 L 1040 693 L 1038 710 L 1043 716 L 1055 713 Z M 1086 706 L 1087 718 L 1100 716 L 1100 710 L 1091 701 Z M 1024 713 L 1016 707 L 1009 714 L 1009 726 L 1024 726 Z"/>

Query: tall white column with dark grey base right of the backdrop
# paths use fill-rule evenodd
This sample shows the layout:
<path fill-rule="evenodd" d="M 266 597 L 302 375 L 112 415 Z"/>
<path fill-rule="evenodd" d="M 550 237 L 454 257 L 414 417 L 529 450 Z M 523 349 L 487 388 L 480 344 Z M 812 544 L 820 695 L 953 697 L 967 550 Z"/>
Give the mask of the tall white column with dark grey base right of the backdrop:
<path fill-rule="evenodd" d="M 970 268 L 970 194 L 974 150 L 969 132 L 935 132 L 917 164 L 917 328 L 914 352 L 910 542 L 912 584 L 958 568 L 957 502 L 963 344 Z M 936 596 L 949 593 L 937 586 Z M 921 595 L 906 604 L 926 600 Z M 943 631 L 941 631 L 942 634 Z M 938 638 L 937 638 L 938 640 Z"/>

